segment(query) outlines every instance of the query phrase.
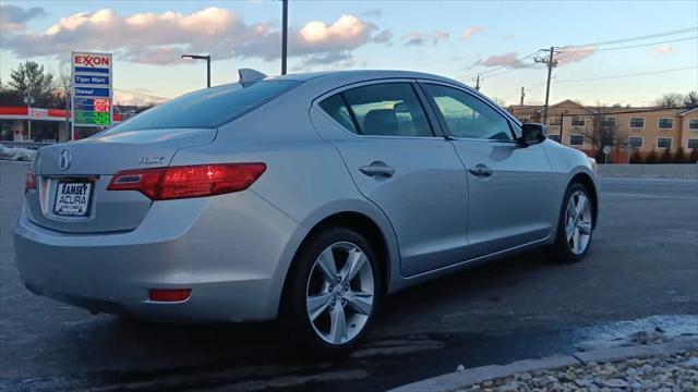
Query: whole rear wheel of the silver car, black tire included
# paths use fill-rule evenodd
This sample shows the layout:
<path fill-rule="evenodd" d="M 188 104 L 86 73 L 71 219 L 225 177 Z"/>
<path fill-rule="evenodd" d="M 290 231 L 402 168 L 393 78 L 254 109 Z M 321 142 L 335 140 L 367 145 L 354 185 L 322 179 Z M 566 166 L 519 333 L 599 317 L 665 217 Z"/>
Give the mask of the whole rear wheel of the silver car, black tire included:
<path fill-rule="evenodd" d="M 377 258 L 369 241 L 348 228 L 323 228 L 293 260 L 280 320 L 290 340 L 309 348 L 306 354 L 341 355 L 364 335 L 382 294 Z"/>

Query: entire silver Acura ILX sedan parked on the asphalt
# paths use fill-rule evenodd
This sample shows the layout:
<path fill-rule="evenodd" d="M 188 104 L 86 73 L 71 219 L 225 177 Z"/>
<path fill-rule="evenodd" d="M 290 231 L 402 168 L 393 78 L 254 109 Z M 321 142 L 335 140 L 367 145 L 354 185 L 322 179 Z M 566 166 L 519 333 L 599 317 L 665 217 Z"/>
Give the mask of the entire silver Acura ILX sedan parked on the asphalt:
<path fill-rule="evenodd" d="M 338 353 L 386 294 L 533 247 L 589 252 L 590 160 L 479 91 L 401 71 L 240 75 L 38 150 L 14 228 L 29 291 L 156 320 L 278 318 Z"/>

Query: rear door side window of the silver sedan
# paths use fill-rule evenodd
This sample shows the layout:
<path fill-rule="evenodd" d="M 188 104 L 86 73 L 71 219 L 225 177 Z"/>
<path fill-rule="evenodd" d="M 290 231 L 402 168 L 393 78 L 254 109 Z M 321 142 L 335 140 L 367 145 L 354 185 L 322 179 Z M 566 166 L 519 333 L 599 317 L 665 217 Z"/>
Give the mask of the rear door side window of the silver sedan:
<path fill-rule="evenodd" d="M 350 132 L 371 136 L 433 136 L 410 83 L 380 83 L 334 95 L 320 103 Z"/>

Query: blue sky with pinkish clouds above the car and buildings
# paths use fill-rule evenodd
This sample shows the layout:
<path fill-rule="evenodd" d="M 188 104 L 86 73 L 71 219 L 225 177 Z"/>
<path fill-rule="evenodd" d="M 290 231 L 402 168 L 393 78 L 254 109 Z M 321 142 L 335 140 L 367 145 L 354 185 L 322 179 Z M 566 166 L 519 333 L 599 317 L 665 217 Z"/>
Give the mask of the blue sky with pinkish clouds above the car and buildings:
<path fill-rule="evenodd" d="M 280 70 L 275 35 L 280 28 L 279 1 L 1 4 L 2 81 L 25 59 L 58 70 L 71 49 L 113 51 L 115 87 L 161 97 L 174 97 L 205 85 L 203 62 L 176 60 L 186 50 L 210 51 L 215 60 L 213 84 L 234 82 L 239 68 L 268 74 Z M 70 19 L 80 13 L 86 14 Z M 541 64 L 533 65 L 527 59 L 516 64 L 522 68 L 497 66 L 550 46 L 695 27 L 698 1 L 291 0 L 289 25 L 289 50 L 296 54 L 289 59 L 292 72 L 405 69 L 461 77 L 468 84 L 480 72 L 486 95 L 515 103 L 520 87 L 527 86 L 527 102 L 537 103 L 544 99 L 545 71 Z M 464 32 L 470 34 L 464 36 Z M 570 98 L 588 105 L 645 106 L 665 93 L 698 89 L 698 40 L 690 39 L 697 35 L 691 30 L 616 45 L 568 48 L 567 58 L 561 58 L 561 65 L 553 72 L 551 101 Z M 603 50 L 666 40 L 675 41 Z M 686 70 L 569 82 L 675 69 Z M 117 98 L 127 102 L 142 97 L 121 93 Z"/>

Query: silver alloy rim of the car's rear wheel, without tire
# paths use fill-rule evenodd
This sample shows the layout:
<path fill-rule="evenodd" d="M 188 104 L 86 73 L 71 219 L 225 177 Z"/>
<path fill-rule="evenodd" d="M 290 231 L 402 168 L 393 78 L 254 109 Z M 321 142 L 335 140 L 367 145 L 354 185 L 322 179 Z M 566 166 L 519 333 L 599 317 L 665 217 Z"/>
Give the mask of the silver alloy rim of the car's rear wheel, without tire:
<path fill-rule="evenodd" d="M 308 279 L 308 318 L 329 344 L 344 344 L 363 330 L 375 294 L 371 262 L 358 245 L 337 242 L 323 250 Z"/>

